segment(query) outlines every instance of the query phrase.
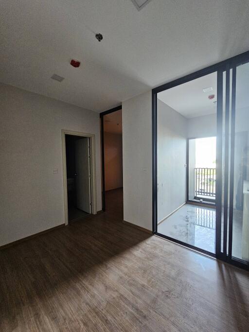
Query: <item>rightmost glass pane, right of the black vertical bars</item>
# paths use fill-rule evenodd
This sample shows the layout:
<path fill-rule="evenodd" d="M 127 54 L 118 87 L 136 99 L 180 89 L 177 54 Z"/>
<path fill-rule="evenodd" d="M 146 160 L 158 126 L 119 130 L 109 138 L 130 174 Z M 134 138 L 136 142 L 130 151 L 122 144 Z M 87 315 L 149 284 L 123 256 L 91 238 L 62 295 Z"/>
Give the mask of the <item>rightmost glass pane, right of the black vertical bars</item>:
<path fill-rule="evenodd" d="M 249 262 L 249 63 L 236 69 L 232 256 Z"/>

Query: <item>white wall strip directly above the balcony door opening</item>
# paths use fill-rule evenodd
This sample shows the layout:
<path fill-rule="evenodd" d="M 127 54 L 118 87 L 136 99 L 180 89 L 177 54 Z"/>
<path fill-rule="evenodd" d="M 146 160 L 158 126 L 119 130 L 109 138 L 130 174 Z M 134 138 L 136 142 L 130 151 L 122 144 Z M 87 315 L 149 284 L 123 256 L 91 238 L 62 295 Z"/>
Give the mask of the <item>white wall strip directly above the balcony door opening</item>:
<path fill-rule="evenodd" d="M 216 136 L 216 113 L 187 120 L 188 138 Z"/>

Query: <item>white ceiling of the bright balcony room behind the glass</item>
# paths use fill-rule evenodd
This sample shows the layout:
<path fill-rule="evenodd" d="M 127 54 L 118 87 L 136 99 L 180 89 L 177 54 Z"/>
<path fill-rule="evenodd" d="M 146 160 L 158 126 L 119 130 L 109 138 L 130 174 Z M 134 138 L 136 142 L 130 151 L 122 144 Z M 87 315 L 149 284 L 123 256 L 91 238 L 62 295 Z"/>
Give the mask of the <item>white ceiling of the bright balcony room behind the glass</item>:
<path fill-rule="evenodd" d="M 213 87 L 211 92 L 202 89 Z M 217 74 L 216 72 L 197 78 L 196 80 L 172 87 L 158 93 L 158 99 L 174 108 L 185 118 L 196 118 L 203 115 L 216 113 L 217 101 Z M 208 96 L 214 94 L 213 99 Z"/>

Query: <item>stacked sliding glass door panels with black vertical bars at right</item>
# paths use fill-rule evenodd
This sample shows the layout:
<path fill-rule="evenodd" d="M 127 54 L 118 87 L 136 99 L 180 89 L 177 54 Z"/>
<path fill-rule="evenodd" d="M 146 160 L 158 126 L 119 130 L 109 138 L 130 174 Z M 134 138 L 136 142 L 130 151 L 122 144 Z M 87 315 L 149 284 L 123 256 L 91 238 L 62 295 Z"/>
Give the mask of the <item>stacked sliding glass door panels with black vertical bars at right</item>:
<path fill-rule="evenodd" d="M 218 257 L 249 264 L 249 62 L 218 74 Z M 222 97 L 221 97 L 222 95 Z M 222 105 L 222 107 L 221 107 Z"/>

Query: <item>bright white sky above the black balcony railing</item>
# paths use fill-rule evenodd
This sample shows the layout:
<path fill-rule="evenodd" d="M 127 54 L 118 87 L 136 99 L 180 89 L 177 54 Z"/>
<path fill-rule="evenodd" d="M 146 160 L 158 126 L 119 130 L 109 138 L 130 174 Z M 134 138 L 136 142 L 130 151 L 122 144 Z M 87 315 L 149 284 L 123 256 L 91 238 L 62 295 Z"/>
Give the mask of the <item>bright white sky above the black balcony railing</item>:
<path fill-rule="evenodd" d="M 216 137 L 196 139 L 196 168 L 216 168 Z"/>

